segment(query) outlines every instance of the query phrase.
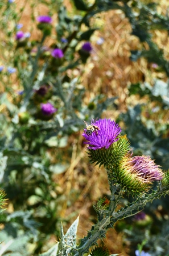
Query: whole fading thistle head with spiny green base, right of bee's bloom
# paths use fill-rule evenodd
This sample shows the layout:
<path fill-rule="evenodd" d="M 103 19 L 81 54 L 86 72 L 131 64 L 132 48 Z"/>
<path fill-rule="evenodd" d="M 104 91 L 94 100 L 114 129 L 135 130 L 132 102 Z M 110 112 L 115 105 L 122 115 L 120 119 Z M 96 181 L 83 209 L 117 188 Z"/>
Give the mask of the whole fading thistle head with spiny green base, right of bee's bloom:
<path fill-rule="evenodd" d="M 163 178 L 159 166 L 145 155 L 137 157 L 125 155 L 117 169 L 113 171 L 116 173 L 117 182 L 133 195 L 146 193 L 153 181 Z"/>

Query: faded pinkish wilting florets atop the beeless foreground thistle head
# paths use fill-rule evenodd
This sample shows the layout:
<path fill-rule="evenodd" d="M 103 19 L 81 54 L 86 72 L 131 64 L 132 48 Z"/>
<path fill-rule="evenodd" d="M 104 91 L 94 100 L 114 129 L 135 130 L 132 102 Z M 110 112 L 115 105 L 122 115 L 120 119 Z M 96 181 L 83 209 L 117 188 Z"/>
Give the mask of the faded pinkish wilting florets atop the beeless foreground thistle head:
<path fill-rule="evenodd" d="M 143 182 L 159 181 L 163 178 L 163 172 L 155 165 L 154 160 L 145 155 L 132 157 L 127 161 L 127 166 Z"/>

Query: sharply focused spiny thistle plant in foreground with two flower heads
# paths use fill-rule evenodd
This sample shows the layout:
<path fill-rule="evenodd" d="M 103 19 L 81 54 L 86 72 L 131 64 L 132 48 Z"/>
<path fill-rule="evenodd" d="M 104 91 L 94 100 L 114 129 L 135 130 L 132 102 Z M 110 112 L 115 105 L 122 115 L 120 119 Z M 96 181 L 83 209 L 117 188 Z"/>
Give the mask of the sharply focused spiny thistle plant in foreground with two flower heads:
<path fill-rule="evenodd" d="M 97 130 L 94 127 L 97 127 Z M 89 129 L 92 132 L 89 132 Z M 97 246 L 98 239 L 104 238 L 106 231 L 114 227 L 119 219 L 139 213 L 147 202 L 152 202 L 169 193 L 169 171 L 164 172 L 149 156 L 133 156 L 126 135 L 120 133 L 121 128 L 118 124 L 106 118 L 98 121 L 92 119 L 91 125 L 84 129 L 82 135 L 86 139 L 84 143 L 88 145 L 86 150 L 89 160 L 105 167 L 111 196 L 110 200 L 100 199 L 97 206 L 94 206 L 97 223 L 88 231 L 86 237 L 81 239 L 79 245 L 76 245 L 79 218 L 72 224 L 67 234 L 64 235 L 61 231 L 61 240 L 56 245 L 57 254 L 55 255 L 83 256 L 84 253 L 90 253 L 90 256 L 108 256 L 108 249 Z M 158 183 L 153 190 L 154 182 Z M 128 195 L 132 195 L 133 202 L 127 201 L 123 207 L 119 208 L 121 198 L 128 200 Z M 53 249 L 56 249 L 56 246 Z M 137 250 L 136 255 L 151 254 Z"/>

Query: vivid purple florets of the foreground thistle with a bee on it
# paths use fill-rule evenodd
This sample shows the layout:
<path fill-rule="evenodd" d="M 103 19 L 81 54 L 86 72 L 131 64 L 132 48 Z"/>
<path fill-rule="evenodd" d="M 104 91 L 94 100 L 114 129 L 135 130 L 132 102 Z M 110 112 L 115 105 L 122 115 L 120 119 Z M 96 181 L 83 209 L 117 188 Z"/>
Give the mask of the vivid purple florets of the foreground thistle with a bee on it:
<path fill-rule="evenodd" d="M 88 144 L 88 149 L 108 149 L 113 142 L 118 141 L 117 136 L 121 132 L 121 128 L 117 125 L 116 122 L 111 121 L 111 119 L 99 119 L 98 121 L 91 120 L 91 125 L 97 126 L 99 130 L 93 131 L 91 134 L 86 133 L 87 129 L 84 129 L 82 134 L 85 137 Z"/>

